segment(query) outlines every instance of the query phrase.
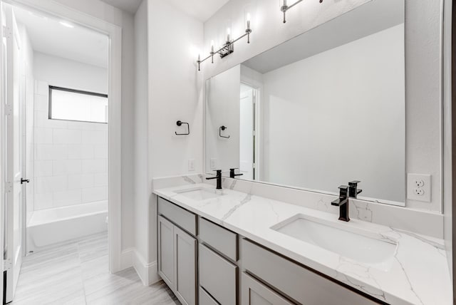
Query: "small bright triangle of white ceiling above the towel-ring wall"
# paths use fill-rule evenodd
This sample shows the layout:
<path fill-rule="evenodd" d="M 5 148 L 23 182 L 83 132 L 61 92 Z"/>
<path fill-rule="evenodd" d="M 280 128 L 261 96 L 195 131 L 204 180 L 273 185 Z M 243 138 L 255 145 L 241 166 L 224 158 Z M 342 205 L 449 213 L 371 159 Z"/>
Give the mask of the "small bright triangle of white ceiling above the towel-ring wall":
<path fill-rule="evenodd" d="M 167 0 L 177 9 L 205 22 L 229 0 Z"/>

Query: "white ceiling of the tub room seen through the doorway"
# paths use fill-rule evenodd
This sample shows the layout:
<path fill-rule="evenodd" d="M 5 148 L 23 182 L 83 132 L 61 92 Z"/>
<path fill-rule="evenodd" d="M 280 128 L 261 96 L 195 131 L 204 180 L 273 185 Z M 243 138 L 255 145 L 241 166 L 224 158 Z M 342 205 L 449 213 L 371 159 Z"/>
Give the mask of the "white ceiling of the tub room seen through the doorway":
<path fill-rule="evenodd" d="M 33 51 L 108 68 L 108 36 L 77 24 L 68 28 L 62 20 L 19 7 L 14 13 L 18 24 L 26 27 Z"/>

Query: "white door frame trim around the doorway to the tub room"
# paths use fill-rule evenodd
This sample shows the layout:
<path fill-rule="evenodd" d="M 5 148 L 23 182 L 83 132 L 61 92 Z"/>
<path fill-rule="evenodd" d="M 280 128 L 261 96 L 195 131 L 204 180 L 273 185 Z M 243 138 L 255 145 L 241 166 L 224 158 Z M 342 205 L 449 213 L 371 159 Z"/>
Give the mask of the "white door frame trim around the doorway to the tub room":
<path fill-rule="evenodd" d="M 108 21 L 90 16 L 82 11 L 77 11 L 63 4 L 48 0 L 0 0 L 1 3 L 23 6 L 26 9 L 42 11 L 45 14 L 58 16 L 74 24 L 86 26 L 109 37 L 109 89 L 110 104 L 108 110 L 108 241 L 109 241 L 109 270 L 121 270 L 122 232 L 121 232 L 121 198 L 122 198 L 122 151 L 121 151 L 121 84 L 122 84 L 122 28 Z M 1 16 L 0 16 L 1 18 Z M 0 29 L 2 31 L 2 29 Z M 3 35 L 3 33 L 1 33 Z M 0 50 L 0 52 L 2 52 Z M 0 63 L 2 65 L 2 63 Z M 3 71 L 3 66 L 0 66 Z M 3 73 L 2 77 L 3 77 Z M 2 83 L 3 84 L 3 83 Z M 1 85 L 3 86 L 3 85 Z M 3 106 L 1 107 L 3 108 Z M 0 110 L 3 113 L 3 109 Z M 4 145 L 4 139 L 1 139 Z M 3 165 L 2 165 L 3 166 Z M 4 188 L 4 183 L 1 183 Z M 3 209 L 3 207 L 1 207 Z M 0 209 L 0 216 L 3 210 Z M 3 219 L 3 218 L 2 218 Z M 3 230 L 1 228 L 0 230 Z M 1 232 L 1 231 L 0 231 Z M 3 234 L 1 234 L 1 238 Z M 3 252 L 3 241 L 1 252 Z M 1 262 L 3 267 L 3 260 Z M 2 284 L 0 282 L 0 284 Z M 3 285 L 1 285 L 3 287 Z"/>

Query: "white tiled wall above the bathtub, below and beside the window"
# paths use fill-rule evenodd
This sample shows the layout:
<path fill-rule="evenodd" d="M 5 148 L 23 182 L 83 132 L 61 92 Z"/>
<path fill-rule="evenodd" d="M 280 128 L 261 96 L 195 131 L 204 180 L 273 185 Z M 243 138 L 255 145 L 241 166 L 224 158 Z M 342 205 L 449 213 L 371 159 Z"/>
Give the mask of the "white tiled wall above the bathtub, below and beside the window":
<path fill-rule="evenodd" d="M 108 124 L 48 119 L 48 83 L 36 81 L 34 210 L 108 200 Z"/>

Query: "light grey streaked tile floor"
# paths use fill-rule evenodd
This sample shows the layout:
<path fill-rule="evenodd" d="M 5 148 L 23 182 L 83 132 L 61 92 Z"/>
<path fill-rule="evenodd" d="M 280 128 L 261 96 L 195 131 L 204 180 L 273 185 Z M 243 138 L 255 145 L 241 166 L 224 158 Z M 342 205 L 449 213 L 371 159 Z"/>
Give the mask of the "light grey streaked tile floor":
<path fill-rule="evenodd" d="M 165 283 L 143 286 L 135 269 L 108 271 L 108 235 L 50 247 L 24 258 L 11 305 L 180 304 Z"/>

